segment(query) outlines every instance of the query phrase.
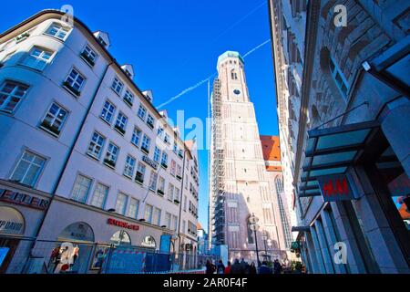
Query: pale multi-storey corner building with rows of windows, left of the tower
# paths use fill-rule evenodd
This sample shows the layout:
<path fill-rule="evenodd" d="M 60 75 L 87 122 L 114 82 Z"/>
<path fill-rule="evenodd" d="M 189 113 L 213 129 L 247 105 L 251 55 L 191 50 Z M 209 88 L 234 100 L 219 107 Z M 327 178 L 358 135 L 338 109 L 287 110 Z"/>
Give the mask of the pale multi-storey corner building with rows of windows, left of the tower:
<path fill-rule="evenodd" d="M 109 54 L 107 33 L 64 19 L 46 10 L 0 35 L 0 208 L 25 224 L 0 232 L 12 251 L 2 272 L 21 272 L 29 253 L 47 261 L 54 244 L 38 240 L 194 254 L 195 143 L 188 147 L 152 92 L 138 89 L 132 66 Z M 18 203 L 9 191 L 35 203 Z M 90 271 L 92 252 L 80 246 L 77 272 Z"/>

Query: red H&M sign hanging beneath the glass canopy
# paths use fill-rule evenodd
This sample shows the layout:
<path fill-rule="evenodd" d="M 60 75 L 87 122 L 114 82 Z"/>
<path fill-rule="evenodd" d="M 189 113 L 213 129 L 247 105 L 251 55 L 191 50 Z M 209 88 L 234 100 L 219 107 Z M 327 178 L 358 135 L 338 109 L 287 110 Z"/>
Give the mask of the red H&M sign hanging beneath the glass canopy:
<path fill-rule="evenodd" d="M 354 193 L 344 174 L 318 177 L 324 202 L 354 200 Z"/>

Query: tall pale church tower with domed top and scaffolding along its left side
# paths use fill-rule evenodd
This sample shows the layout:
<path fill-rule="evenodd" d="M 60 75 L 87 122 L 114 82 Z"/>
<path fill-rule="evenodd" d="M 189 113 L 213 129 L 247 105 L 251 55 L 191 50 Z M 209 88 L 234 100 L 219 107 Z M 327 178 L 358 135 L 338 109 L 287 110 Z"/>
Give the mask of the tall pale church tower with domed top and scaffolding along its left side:
<path fill-rule="evenodd" d="M 228 245 L 230 260 L 256 261 L 256 244 L 264 250 L 266 235 L 272 243 L 269 254 L 283 258 L 280 211 L 265 169 L 243 59 L 228 51 L 219 57 L 217 68 L 211 99 L 210 240 Z M 257 241 L 249 222 L 252 214 L 259 218 Z"/>

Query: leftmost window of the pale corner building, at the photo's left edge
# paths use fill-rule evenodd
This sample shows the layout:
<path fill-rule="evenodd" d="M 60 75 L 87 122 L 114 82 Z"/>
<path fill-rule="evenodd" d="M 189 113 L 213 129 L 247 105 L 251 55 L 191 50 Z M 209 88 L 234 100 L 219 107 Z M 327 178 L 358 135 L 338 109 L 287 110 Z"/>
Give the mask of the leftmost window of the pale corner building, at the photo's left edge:
<path fill-rule="evenodd" d="M 13 112 L 21 99 L 26 96 L 28 86 L 13 81 L 5 81 L 0 89 L 0 110 Z"/>

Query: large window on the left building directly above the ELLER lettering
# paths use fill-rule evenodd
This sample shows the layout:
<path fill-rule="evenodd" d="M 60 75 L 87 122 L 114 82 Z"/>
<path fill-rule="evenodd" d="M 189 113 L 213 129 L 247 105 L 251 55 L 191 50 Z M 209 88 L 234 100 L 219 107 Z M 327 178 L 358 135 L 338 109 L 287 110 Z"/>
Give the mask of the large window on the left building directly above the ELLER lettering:
<path fill-rule="evenodd" d="M 45 163 L 46 159 L 32 152 L 25 151 L 17 166 L 15 166 L 15 171 L 10 179 L 34 187 Z"/>

